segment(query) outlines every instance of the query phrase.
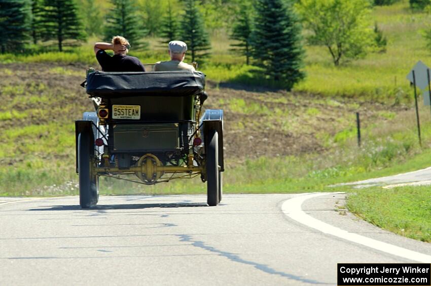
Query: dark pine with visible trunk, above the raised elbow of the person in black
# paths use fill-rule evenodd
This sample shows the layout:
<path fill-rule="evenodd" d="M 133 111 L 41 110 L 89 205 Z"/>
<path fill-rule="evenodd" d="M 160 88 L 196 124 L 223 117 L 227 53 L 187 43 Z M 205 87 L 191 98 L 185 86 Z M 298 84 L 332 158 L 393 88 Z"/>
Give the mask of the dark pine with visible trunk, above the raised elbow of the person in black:
<path fill-rule="evenodd" d="M 65 40 L 73 40 L 76 45 L 86 38 L 73 0 L 44 0 L 40 21 L 43 38 L 57 40 L 60 52 Z"/>

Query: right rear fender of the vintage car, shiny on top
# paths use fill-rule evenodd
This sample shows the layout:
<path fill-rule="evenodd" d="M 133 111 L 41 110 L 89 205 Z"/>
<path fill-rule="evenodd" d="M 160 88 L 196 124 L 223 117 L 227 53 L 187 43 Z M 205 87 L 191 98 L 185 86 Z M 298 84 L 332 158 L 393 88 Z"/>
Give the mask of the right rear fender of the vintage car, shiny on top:
<path fill-rule="evenodd" d="M 223 109 L 206 109 L 200 119 L 201 134 L 205 146 L 208 146 L 208 136 L 210 130 L 216 130 L 219 134 L 219 165 L 221 171 L 225 171 L 224 154 L 223 154 Z"/>

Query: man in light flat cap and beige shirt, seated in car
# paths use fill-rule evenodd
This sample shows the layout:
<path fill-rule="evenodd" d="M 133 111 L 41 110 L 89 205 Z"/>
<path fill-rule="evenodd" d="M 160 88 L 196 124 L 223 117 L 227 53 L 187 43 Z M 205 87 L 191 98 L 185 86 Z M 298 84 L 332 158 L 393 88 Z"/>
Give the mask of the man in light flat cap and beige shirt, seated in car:
<path fill-rule="evenodd" d="M 186 43 L 181 42 L 181 40 L 172 40 L 171 42 L 169 42 L 168 47 L 170 61 L 157 62 L 154 65 L 154 71 L 195 70 L 192 65 L 183 62 L 187 51 Z"/>

